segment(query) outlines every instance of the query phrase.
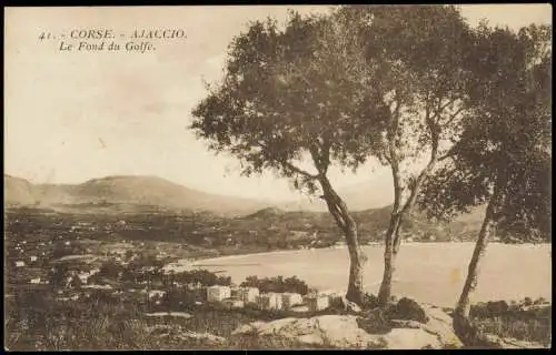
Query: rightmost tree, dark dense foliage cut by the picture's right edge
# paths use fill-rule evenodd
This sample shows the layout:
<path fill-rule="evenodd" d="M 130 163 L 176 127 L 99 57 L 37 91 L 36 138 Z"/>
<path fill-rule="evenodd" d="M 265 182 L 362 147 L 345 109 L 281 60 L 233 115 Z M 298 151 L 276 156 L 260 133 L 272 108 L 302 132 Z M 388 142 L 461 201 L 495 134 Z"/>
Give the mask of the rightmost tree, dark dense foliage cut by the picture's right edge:
<path fill-rule="evenodd" d="M 449 219 L 485 205 L 483 225 L 454 313 L 466 343 L 470 298 L 489 239 L 498 231 L 530 241 L 549 237 L 552 161 L 552 29 L 513 32 L 483 23 L 467 64 L 474 71 L 463 133 L 430 179 L 420 204 Z M 503 232 L 500 233 L 500 230 Z"/>

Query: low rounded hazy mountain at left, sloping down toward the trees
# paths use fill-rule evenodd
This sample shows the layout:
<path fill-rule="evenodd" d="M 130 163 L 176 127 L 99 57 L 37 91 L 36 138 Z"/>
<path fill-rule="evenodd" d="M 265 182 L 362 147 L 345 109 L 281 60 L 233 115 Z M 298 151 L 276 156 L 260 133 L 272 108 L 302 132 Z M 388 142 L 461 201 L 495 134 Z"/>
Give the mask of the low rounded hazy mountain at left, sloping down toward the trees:
<path fill-rule="evenodd" d="M 185 187 L 157 176 L 107 176 L 81 184 L 31 184 L 4 175 L 6 204 L 151 205 L 165 209 L 247 214 L 270 206 L 264 201 L 224 196 Z"/>

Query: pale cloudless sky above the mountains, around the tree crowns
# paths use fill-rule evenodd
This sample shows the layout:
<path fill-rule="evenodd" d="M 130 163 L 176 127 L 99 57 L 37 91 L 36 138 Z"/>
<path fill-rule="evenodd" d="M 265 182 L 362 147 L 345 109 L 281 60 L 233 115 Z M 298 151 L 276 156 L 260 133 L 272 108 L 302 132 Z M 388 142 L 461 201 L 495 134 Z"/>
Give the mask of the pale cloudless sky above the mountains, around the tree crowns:
<path fill-rule="evenodd" d="M 207 93 L 203 81 L 224 75 L 232 38 L 251 20 L 284 21 L 289 8 L 6 8 L 4 172 L 32 183 L 158 175 L 211 193 L 298 197 L 287 181 L 271 174 L 241 178 L 236 160 L 216 156 L 187 130 L 191 109 Z M 327 9 L 294 8 L 302 13 Z M 483 18 L 513 29 L 552 23 L 549 4 L 473 4 L 463 6 L 461 13 L 473 26 Z M 128 37 L 157 28 L 180 29 L 187 38 L 153 41 L 156 50 L 146 53 L 60 51 L 61 34 L 72 30 L 110 29 Z M 42 32 L 57 39 L 39 40 Z M 357 174 L 331 172 L 340 187 L 389 179 L 388 170 L 371 164 Z"/>

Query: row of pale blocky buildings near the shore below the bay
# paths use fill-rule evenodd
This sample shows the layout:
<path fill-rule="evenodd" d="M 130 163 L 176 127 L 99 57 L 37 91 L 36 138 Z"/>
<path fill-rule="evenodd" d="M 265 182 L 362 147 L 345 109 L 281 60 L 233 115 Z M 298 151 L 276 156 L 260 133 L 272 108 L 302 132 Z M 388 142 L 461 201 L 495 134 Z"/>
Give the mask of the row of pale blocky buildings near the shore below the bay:
<path fill-rule="evenodd" d="M 309 294 L 302 297 L 298 293 L 260 293 L 257 287 L 207 287 L 207 302 L 220 303 L 230 308 L 255 305 L 260 310 L 317 312 L 329 307 L 337 294 Z"/>

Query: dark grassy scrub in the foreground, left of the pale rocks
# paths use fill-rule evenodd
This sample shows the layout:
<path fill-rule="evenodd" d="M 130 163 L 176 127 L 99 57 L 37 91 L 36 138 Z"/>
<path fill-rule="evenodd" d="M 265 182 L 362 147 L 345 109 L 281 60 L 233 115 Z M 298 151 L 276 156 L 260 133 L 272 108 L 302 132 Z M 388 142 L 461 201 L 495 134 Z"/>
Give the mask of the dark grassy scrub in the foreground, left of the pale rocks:
<path fill-rule="evenodd" d="M 30 292 L 6 304 L 6 347 L 10 351 L 301 348 L 287 338 L 231 336 L 242 324 L 279 314 L 190 310 L 191 318 L 149 318 L 137 302 L 103 297 L 60 302 L 46 291 Z M 160 328 L 163 334 L 160 334 Z M 221 343 L 183 338 L 186 331 L 225 337 Z M 307 346 L 305 346 L 307 347 Z"/>

